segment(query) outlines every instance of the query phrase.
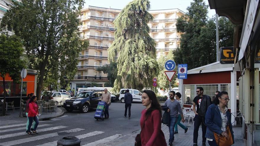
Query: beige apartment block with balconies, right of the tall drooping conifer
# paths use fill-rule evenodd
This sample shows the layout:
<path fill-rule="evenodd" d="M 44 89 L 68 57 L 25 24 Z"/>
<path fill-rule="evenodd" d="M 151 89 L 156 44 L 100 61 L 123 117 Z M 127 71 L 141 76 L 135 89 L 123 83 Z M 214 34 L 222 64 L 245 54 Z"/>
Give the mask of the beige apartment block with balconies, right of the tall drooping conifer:
<path fill-rule="evenodd" d="M 179 47 L 181 34 L 176 30 L 176 22 L 185 13 L 179 9 L 150 10 L 149 13 L 154 17 L 148 24 L 150 36 L 156 42 L 156 55 L 159 58 L 161 51 L 167 55 L 169 50 Z"/>

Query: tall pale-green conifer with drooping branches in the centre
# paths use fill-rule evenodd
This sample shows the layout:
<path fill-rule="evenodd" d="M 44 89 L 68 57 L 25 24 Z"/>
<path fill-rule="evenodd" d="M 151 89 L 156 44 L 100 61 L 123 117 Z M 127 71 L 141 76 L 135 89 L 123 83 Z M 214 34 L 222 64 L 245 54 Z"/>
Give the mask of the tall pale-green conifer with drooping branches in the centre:
<path fill-rule="evenodd" d="M 114 21 L 115 41 L 108 49 L 108 60 L 117 62 L 115 91 L 152 87 L 152 78 L 158 74 L 155 41 L 149 36 L 147 25 L 153 18 L 147 12 L 149 9 L 150 1 L 134 0 L 122 9 Z"/>

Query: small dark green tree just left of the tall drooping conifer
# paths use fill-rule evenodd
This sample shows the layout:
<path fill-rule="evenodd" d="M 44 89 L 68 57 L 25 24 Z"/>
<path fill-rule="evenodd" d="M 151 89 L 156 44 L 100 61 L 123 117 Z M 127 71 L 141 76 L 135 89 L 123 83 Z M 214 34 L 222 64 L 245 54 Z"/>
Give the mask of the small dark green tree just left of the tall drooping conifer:
<path fill-rule="evenodd" d="M 114 82 L 117 76 L 117 63 L 111 62 L 108 65 L 104 65 L 97 69 L 98 71 L 103 71 L 103 73 L 108 75 L 108 83 L 105 83 L 105 87 L 114 87 Z"/>

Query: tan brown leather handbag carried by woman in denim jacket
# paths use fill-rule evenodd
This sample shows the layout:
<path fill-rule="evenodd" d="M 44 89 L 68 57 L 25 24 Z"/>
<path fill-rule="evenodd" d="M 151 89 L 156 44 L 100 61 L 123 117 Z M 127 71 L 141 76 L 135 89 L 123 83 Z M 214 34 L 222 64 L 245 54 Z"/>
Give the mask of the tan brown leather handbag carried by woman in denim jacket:
<path fill-rule="evenodd" d="M 226 130 L 226 133 L 228 134 L 228 138 L 222 136 L 222 135 L 219 135 L 215 132 L 214 133 L 214 137 L 215 137 L 215 141 L 217 143 L 218 146 L 230 146 L 230 145 L 233 145 L 233 137 L 232 137 L 232 134 L 231 134 L 231 131 L 229 129 L 229 126 L 227 127 L 227 130 Z"/>

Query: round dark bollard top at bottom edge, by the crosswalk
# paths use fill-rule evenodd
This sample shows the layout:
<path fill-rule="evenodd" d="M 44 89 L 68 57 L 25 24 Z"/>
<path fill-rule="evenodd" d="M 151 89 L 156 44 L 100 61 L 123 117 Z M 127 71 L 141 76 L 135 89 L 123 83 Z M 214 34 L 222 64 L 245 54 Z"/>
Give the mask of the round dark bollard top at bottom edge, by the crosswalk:
<path fill-rule="evenodd" d="M 81 140 L 74 136 L 67 136 L 61 138 L 57 142 L 57 146 L 80 146 Z"/>

